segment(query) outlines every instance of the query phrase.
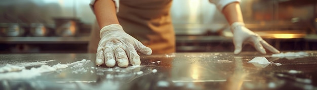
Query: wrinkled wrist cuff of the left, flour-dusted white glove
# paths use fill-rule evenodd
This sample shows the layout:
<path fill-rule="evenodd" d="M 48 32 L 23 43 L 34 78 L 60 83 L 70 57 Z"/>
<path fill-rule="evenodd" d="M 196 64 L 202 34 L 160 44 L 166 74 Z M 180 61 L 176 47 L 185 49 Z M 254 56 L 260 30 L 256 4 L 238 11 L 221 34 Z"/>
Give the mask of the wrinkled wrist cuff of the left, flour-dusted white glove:
<path fill-rule="evenodd" d="M 107 26 L 104 26 L 103 28 L 101 28 L 100 33 L 99 33 L 100 38 L 102 38 L 102 35 L 104 33 L 107 33 L 107 32 L 110 32 L 110 31 L 118 31 L 118 32 L 124 32 L 125 33 L 125 31 L 123 30 L 121 25 L 119 25 L 119 24 L 110 24 L 110 25 L 107 25 Z"/>

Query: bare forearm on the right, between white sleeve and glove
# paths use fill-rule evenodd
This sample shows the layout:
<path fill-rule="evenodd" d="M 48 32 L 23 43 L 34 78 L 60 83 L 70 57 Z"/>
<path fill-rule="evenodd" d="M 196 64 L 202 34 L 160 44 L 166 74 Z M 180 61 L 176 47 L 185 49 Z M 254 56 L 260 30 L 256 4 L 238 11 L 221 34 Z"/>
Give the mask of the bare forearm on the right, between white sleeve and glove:
<path fill-rule="evenodd" d="M 244 23 L 240 4 L 237 2 L 225 6 L 222 10 L 222 13 L 230 25 L 234 22 Z"/>

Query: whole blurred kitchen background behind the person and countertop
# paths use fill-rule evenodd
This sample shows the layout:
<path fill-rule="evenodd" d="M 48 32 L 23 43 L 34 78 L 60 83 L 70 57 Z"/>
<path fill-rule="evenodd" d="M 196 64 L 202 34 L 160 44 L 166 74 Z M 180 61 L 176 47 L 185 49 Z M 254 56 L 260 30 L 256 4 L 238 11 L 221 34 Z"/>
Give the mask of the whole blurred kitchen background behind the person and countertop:
<path fill-rule="evenodd" d="M 90 0 L 0 0 L 0 53 L 85 53 Z M 317 1 L 242 0 L 246 27 L 279 50 L 317 50 Z M 177 52 L 233 51 L 225 18 L 208 0 L 174 0 Z M 244 45 L 243 51 L 255 51 Z"/>

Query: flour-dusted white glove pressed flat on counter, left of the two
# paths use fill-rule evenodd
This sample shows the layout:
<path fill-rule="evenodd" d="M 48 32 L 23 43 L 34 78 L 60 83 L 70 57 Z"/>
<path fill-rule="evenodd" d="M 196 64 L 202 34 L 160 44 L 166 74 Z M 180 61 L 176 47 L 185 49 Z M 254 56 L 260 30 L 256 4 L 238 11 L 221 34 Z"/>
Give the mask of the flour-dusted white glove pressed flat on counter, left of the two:
<path fill-rule="evenodd" d="M 121 25 L 111 24 L 100 30 L 100 41 L 97 49 L 96 65 L 103 63 L 113 67 L 117 63 L 120 67 L 140 65 L 140 56 L 137 51 L 150 55 L 152 50 L 144 46 L 137 39 L 127 34 Z"/>

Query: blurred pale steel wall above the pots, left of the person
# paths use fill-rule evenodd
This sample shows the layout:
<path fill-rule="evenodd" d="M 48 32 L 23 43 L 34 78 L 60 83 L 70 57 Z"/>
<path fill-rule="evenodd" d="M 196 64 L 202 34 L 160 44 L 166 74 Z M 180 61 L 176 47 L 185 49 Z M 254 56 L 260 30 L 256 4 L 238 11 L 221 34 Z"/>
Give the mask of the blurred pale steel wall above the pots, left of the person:
<path fill-rule="evenodd" d="M 0 0 L 1 23 L 54 23 L 54 17 L 92 23 L 90 0 Z"/>

